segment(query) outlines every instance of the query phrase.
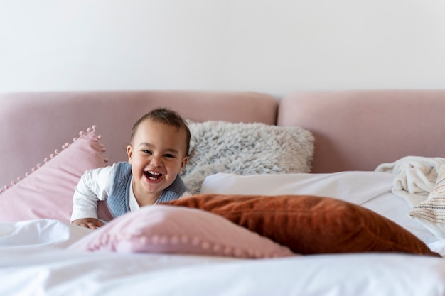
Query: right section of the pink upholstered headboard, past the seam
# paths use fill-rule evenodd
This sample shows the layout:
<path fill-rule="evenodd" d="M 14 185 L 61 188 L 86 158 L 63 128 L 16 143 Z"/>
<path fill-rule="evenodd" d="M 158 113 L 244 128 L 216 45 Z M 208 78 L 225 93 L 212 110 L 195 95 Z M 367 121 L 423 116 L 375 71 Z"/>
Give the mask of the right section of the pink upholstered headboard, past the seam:
<path fill-rule="evenodd" d="M 404 156 L 445 157 L 445 90 L 295 92 L 279 126 L 316 138 L 311 172 L 375 170 Z"/>

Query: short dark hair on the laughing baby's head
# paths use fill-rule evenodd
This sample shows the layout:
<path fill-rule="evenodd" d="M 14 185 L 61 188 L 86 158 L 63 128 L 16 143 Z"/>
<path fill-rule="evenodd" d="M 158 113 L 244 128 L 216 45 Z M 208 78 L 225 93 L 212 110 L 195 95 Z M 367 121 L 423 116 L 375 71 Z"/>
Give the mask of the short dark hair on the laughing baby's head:
<path fill-rule="evenodd" d="M 178 130 L 183 130 L 186 132 L 186 138 L 187 138 L 187 150 L 186 155 L 188 157 L 191 156 L 190 151 L 190 139 L 191 139 L 191 133 L 190 129 L 187 126 L 186 121 L 182 118 L 178 112 L 173 111 L 169 108 L 157 108 L 149 111 L 149 113 L 142 116 L 140 119 L 138 119 L 132 128 L 132 138 L 130 138 L 130 143 L 133 143 L 134 135 L 136 134 L 137 128 L 139 127 L 139 124 L 141 124 L 142 121 L 145 120 L 152 120 L 155 122 L 159 122 L 161 124 L 167 124 L 168 126 L 176 126 Z"/>

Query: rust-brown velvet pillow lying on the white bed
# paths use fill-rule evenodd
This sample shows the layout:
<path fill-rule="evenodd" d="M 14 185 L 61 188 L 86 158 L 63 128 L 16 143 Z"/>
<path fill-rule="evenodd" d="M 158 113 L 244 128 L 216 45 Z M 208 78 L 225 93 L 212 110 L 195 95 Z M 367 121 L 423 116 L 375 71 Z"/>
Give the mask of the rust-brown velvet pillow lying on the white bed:
<path fill-rule="evenodd" d="M 300 254 L 401 252 L 439 256 L 390 219 L 331 197 L 198 194 L 165 204 L 219 214 Z"/>

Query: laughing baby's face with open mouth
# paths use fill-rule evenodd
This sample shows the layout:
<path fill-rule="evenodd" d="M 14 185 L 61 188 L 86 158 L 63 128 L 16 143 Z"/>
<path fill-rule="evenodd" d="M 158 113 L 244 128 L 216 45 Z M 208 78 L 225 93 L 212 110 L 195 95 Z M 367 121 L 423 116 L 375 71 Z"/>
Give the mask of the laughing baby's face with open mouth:
<path fill-rule="evenodd" d="M 186 139 L 186 132 L 176 126 L 141 122 L 127 147 L 136 199 L 157 199 L 173 183 L 188 161 Z"/>

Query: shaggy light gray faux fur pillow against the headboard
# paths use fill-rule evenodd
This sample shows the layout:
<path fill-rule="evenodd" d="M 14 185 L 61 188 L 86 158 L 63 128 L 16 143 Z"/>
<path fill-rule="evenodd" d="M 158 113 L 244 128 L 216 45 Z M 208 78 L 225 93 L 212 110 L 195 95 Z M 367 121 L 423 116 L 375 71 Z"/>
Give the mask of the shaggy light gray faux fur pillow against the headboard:
<path fill-rule="evenodd" d="M 230 172 L 239 175 L 309 172 L 314 138 L 297 126 L 188 122 L 195 154 L 181 177 L 192 194 L 208 175 Z"/>

